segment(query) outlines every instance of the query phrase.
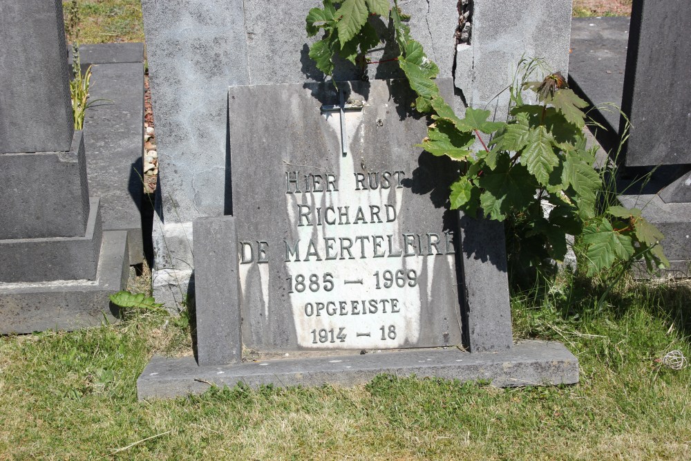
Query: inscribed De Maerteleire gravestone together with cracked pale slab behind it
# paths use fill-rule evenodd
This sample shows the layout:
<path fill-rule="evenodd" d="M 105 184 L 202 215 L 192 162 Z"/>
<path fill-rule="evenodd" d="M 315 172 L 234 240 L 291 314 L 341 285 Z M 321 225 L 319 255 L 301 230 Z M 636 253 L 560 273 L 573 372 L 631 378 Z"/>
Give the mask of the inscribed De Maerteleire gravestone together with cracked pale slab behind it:
<path fill-rule="evenodd" d="M 578 381 L 561 344 L 513 344 L 502 225 L 446 208 L 459 172 L 415 147 L 428 120 L 406 109 L 410 88 L 386 47 L 367 79 L 340 68 L 337 89 L 307 57 L 304 17 L 321 2 L 193 3 L 143 6 L 162 178 L 154 288 L 170 308 L 176 281 L 194 293 L 196 356 L 154 357 L 140 399 L 238 382 L 352 385 L 379 373 Z M 552 50 L 566 70 L 568 37 L 553 40 L 564 28 L 544 41 L 524 32 L 538 30 L 540 8 L 568 24 L 569 2 L 533 6 L 527 21 L 500 2 L 491 23 L 489 4 L 475 2 L 475 21 L 466 3 L 401 2 L 457 109 L 459 91 L 485 104 L 510 84 L 523 53 Z M 463 88 L 457 35 L 466 64 L 478 62 Z"/>

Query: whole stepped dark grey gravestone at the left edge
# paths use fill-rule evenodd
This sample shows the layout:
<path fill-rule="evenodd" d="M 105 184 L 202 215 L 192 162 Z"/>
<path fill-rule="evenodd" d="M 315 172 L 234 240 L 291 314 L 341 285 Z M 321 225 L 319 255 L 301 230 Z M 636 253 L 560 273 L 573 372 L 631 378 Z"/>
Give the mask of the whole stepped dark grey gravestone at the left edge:
<path fill-rule="evenodd" d="M 126 283 L 126 233 L 102 232 L 89 195 L 61 1 L 1 3 L 0 40 L 0 333 L 98 324 Z"/>

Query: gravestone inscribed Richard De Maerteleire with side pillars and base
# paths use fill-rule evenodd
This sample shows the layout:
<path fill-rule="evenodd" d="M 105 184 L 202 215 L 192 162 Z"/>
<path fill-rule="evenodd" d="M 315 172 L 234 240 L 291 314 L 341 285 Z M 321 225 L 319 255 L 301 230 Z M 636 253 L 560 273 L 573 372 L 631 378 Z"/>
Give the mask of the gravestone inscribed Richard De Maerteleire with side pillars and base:
<path fill-rule="evenodd" d="M 513 344 L 502 225 L 447 209 L 460 171 L 416 147 L 414 99 L 399 79 L 229 89 L 234 214 L 193 225 L 197 357 L 154 357 L 140 399 L 379 373 L 578 382 L 561 344 Z"/>

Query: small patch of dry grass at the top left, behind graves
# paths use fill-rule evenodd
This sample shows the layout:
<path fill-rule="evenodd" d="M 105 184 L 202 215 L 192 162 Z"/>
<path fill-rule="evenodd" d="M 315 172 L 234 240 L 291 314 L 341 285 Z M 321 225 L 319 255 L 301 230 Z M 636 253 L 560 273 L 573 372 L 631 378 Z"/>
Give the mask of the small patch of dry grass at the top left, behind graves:
<path fill-rule="evenodd" d="M 65 17 L 71 0 L 63 1 Z M 140 0 L 77 0 L 81 44 L 144 41 Z"/>

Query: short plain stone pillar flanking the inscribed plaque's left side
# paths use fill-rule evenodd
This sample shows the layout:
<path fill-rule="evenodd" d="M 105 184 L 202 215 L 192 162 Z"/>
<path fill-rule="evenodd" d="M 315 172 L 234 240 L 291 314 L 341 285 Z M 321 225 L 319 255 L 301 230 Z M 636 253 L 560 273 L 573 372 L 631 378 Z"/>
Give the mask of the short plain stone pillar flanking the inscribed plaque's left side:
<path fill-rule="evenodd" d="M 193 236 L 198 364 L 239 364 L 243 341 L 235 218 L 198 218 Z"/>

